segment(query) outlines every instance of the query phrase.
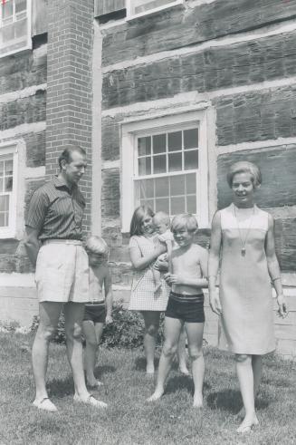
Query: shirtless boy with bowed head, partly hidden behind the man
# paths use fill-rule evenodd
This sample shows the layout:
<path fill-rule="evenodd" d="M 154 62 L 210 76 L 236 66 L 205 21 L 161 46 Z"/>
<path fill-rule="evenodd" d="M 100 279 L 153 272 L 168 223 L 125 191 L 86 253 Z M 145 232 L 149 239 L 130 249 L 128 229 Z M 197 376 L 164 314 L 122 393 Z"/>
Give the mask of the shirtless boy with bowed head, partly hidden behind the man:
<path fill-rule="evenodd" d="M 90 302 L 85 305 L 82 322 L 86 341 L 84 363 L 86 382 L 94 388 L 102 384 L 96 380 L 94 368 L 104 323 L 112 323 L 113 296 L 110 269 L 107 264 L 109 248 L 106 242 L 100 237 L 89 237 L 85 250 L 89 256 L 90 266 Z"/>

